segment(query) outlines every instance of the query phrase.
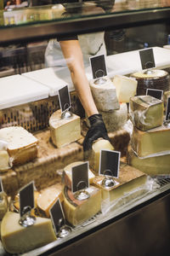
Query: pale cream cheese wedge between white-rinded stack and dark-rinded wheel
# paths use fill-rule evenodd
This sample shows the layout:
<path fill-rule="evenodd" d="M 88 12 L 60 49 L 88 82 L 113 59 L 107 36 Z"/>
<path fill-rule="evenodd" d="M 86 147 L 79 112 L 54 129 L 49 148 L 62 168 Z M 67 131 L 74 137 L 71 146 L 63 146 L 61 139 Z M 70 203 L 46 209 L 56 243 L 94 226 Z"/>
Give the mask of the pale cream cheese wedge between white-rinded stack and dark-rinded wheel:
<path fill-rule="evenodd" d="M 129 99 L 136 95 L 138 84 L 136 79 L 116 75 L 113 78 L 113 84 L 116 86 L 116 96 L 119 102 L 129 102 Z"/>

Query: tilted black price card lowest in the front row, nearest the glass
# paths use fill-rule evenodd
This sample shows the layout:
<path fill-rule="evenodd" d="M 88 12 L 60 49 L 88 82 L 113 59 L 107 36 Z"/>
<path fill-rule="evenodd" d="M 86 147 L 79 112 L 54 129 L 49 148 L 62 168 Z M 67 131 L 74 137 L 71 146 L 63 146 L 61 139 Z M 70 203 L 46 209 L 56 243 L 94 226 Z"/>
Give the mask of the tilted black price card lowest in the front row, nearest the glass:
<path fill-rule="evenodd" d="M 49 209 L 51 220 L 54 224 L 54 230 L 57 234 L 60 228 L 65 224 L 65 215 L 59 199 Z"/>

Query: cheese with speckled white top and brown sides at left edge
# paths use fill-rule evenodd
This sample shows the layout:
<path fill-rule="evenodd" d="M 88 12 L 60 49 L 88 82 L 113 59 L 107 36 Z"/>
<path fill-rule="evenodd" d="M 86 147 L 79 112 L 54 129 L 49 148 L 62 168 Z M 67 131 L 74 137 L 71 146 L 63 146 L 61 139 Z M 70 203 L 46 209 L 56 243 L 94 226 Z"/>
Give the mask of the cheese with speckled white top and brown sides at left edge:
<path fill-rule="evenodd" d="M 37 138 L 21 126 L 0 129 L 0 140 L 8 143 L 9 159 L 14 166 L 37 157 Z"/>

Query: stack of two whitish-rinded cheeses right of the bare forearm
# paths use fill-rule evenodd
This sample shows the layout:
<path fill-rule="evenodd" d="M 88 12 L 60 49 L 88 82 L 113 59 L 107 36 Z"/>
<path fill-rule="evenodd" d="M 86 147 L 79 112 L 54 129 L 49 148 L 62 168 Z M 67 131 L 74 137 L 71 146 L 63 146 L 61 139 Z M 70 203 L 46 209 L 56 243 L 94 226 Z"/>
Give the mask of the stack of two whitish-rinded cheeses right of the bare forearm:
<path fill-rule="evenodd" d="M 127 105 L 119 103 L 116 86 L 107 77 L 90 81 L 94 102 L 102 114 L 108 132 L 117 131 L 127 122 Z M 87 124 L 89 126 L 88 118 Z"/>

